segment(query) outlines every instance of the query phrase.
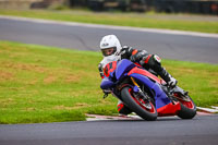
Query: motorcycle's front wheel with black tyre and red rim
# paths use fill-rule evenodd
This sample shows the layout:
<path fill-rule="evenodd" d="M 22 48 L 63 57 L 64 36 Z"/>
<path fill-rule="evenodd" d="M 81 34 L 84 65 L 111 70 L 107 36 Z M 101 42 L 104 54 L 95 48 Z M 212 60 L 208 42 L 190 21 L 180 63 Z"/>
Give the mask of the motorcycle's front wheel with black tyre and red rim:
<path fill-rule="evenodd" d="M 157 110 L 152 101 L 145 102 L 143 99 L 134 97 L 131 87 L 124 87 L 121 90 L 121 98 L 123 102 L 136 114 L 147 121 L 157 119 Z"/>

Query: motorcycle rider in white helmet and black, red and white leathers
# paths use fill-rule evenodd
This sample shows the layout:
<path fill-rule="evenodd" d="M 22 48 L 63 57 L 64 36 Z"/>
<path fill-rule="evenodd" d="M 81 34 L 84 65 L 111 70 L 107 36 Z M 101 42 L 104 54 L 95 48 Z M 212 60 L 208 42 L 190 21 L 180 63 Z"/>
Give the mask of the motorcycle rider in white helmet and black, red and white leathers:
<path fill-rule="evenodd" d="M 101 78 L 107 73 L 106 64 L 121 59 L 129 59 L 134 63 L 141 64 L 144 69 L 158 74 L 168 86 L 174 87 L 177 85 L 177 80 L 161 67 L 161 59 L 157 55 L 149 55 L 146 50 L 137 50 L 129 46 L 122 47 L 116 35 L 104 36 L 100 41 L 100 50 L 104 56 L 104 59 L 98 64 Z M 104 93 L 109 94 L 110 90 L 104 90 Z M 131 110 L 120 100 L 118 102 L 118 111 L 120 114 L 131 113 Z"/>

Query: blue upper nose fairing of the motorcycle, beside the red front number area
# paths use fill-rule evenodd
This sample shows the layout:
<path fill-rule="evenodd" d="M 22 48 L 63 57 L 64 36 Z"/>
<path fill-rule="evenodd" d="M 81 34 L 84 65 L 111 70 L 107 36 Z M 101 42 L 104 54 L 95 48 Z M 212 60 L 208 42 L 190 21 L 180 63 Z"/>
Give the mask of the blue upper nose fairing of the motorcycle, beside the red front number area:
<path fill-rule="evenodd" d="M 124 74 L 129 72 L 131 69 L 133 69 L 134 67 L 135 64 L 128 59 L 120 60 L 116 69 L 116 78 L 120 81 L 122 77 L 124 77 Z"/>

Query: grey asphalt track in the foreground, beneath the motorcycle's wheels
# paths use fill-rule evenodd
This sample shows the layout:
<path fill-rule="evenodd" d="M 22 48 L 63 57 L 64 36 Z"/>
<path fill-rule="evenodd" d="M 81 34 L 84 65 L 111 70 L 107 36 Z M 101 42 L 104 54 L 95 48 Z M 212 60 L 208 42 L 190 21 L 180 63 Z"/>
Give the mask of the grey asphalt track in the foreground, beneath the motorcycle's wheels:
<path fill-rule="evenodd" d="M 217 145 L 218 116 L 0 125 L 1 145 Z"/>

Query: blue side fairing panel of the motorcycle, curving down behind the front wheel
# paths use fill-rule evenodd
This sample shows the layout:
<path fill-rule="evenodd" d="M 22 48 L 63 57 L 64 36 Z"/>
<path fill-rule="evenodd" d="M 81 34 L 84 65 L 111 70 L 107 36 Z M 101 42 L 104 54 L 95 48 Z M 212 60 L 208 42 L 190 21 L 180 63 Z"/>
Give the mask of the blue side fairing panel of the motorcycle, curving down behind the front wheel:
<path fill-rule="evenodd" d="M 152 93 L 155 92 L 154 95 L 157 109 L 171 102 L 171 100 L 167 97 L 166 93 L 162 90 L 158 83 L 155 83 L 150 81 L 147 76 L 137 73 L 133 73 L 130 76 L 143 83 L 145 86 L 147 86 L 147 88 L 150 89 Z"/>

